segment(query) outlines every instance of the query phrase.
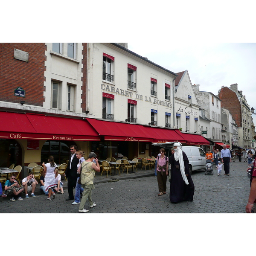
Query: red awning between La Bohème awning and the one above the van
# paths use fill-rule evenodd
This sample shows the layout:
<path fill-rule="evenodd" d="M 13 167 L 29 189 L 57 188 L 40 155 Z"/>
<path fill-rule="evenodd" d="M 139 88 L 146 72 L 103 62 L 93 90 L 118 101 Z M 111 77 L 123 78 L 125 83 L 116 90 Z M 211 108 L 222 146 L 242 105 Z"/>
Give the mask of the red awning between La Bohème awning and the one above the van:
<path fill-rule="evenodd" d="M 179 141 L 180 143 L 186 143 L 179 130 L 168 128 L 157 128 L 144 126 L 145 131 L 154 137 L 154 143 L 165 143 L 170 141 Z"/>

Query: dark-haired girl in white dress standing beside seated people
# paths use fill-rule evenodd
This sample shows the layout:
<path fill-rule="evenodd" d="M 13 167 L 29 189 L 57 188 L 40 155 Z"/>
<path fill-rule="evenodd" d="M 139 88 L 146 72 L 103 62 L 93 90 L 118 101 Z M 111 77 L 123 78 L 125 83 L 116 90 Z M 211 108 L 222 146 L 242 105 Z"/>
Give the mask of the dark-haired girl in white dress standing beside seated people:
<path fill-rule="evenodd" d="M 48 161 L 49 163 L 47 164 L 42 163 L 42 166 L 44 167 L 44 172 L 46 173 L 44 178 L 44 189 L 45 191 L 49 191 L 47 199 L 51 200 L 51 195 L 52 198 L 54 198 L 56 195 L 54 192 L 52 193 L 52 189 L 56 186 L 54 170 L 57 168 L 57 165 L 54 163 L 53 156 L 50 156 Z"/>

